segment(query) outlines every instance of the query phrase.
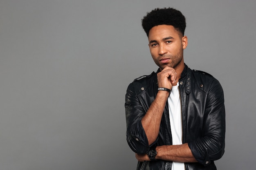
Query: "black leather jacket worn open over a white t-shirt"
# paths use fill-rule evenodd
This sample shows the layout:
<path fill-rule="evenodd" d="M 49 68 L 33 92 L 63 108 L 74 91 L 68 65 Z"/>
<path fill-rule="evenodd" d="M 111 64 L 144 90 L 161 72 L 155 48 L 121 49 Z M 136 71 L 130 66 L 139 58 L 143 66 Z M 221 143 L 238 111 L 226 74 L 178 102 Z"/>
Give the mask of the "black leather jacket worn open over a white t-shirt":
<path fill-rule="evenodd" d="M 157 71 L 159 72 L 159 70 Z M 198 163 L 185 163 L 186 170 L 216 170 L 214 160 L 225 148 L 225 106 L 222 87 L 208 73 L 191 70 L 185 65 L 180 83 L 182 106 L 182 143 L 188 143 Z M 130 148 L 145 154 L 153 145 L 172 145 L 168 103 L 164 109 L 155 143 L 148 140 L 141 125 L 157 94 L 157 73 L 135 79 L 126 92 L 126 137 Z M 143 162 L 138 162 L 140 170 Z M 144 161 L 145 170 L 171 170 L 171 161 Z"/>

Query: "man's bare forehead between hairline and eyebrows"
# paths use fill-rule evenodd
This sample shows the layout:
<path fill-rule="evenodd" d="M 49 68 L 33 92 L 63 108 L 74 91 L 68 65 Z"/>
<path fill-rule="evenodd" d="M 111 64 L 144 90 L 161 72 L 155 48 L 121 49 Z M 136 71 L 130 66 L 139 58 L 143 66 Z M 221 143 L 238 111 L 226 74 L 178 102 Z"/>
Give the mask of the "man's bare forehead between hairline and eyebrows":
<path fill-rule="evenodd" d="M 180 32 L 172 25 L 157 25 L 150 29 L 148 40 L 162 40 L 166 37 L 180 38 Z"/>

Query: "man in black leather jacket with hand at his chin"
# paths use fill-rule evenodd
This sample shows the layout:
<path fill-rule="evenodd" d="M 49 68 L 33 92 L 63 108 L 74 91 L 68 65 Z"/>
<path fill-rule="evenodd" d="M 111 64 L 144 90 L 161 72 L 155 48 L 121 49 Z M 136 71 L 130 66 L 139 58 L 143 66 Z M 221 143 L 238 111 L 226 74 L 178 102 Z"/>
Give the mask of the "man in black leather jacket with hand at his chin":
<path fill-rule="evenodd" d="M 173 8 L 142 20 L 158 71 L 135 79 L 126 92 L 127 141 L 137 170 L 216 170 L 225 147 L 222 87 L 184 64 L 186 21 Z"/>

